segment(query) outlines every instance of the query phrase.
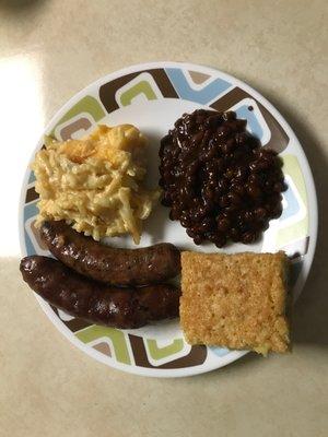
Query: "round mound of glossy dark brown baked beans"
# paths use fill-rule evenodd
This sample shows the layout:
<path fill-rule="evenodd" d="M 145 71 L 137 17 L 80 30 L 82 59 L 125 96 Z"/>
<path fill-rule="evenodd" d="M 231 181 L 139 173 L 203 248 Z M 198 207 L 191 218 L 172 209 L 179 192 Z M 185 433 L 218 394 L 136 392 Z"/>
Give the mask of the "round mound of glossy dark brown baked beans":
<path fill-rule="evenodd" d="M 184 114 L 162 139 L 160 158 L 162 203 L 197 245 L 253 243 L 281 214 L 281 161 L 233 111 Z"/>

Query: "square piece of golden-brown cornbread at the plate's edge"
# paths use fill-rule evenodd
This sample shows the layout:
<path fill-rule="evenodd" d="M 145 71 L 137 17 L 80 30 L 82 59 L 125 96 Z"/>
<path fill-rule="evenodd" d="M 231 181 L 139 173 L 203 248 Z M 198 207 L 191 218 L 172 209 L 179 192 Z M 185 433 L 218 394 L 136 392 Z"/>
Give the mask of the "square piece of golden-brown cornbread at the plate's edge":
<path fill-rule="evenodd" d="M 288 257 L 181 253 L 180 324 L 190 344 L 289 350 Z"/>

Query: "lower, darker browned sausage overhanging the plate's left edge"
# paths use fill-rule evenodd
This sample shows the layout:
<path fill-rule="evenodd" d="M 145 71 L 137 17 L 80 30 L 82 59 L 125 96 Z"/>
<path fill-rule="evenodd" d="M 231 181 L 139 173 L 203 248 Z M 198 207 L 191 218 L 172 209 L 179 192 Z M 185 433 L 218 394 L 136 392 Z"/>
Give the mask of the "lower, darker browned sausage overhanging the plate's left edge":
<path fill-rule="evenodd" d="M 20 270 L 24 281 L 45 300 L 92 323 L 128 329 L 178 316 L 180 292 L 173 285 L 117 288 L 39 256 L 23 258 Z"/>

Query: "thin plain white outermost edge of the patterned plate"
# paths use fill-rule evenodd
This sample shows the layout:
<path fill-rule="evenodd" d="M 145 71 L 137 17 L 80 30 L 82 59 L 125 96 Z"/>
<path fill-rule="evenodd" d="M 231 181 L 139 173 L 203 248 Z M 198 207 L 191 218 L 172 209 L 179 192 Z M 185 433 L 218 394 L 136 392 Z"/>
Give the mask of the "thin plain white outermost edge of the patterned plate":
<path fill-rule="evenodd" d="M 75 93 L 72 97 L 70 97 L 51 117 L 49 122 L 46 125 L 46 127 L 43 130 L 43 134 L 40 135 L 39 140 L 37 141 L 36 146 L 34 147 L 28 165 L 31 161 L 33 160 L 34 154 L 37 152 L 39 149 L 39 143 L 43 141 L 44 138 L 44 132 L 49 131 L 51 127 L 54 127 L 55 121 L 60 119 L 60 117 L 72 107 L 77 102 L 81 99 L 81 97 L 85 96 L 89 91 L 93 91 L 95 87 L 99 87 L 102 84 L 105 84 L 109 81 L 113 81 L 115 79 L 118 79 L 120 76 L 124 76 L 129 73 L 142 71 L 142 70 L 151 70 L 151 69 L 160 69 L 160 68 L 180 68 L 180 69 L 187 69 L 187 70 L 196 70 L 196 71 L 201 71 L 202 73 L 209 73 L 210 75 L 220 75 L 220 78 L 225 79 L 227 81 L 231 81 L 235 86 L 241 86 L 241 88 L 245 90 L 248 92 L 254 98 L 256 98 L 260 104 L 263 105 L 266 109 L 269 110 L 269 113 L 277 119 L 279 125 L 288 132 L 289 137 L 293 139 L 295 144 L 297 145 L 297 152 L 301 157 L 301 168 L 302 168 L 302 174 L 304 176 L 304 179 L 306 180 L 306 192 L 308 197 L 308 202 L 311 203 L 311 220 L 308 222 L 308 234 L 311 235 L 311 244 L 308 246 L 308 250 L 306 253 L 307 257 L 307 263 L 303 267 L 304 272 L 303 272 L 303 279 L 297 281 L 294 287 L 294 294 L 295 298 L 297 298 L 302 292 L 302 288 L 305 285 L 305 282 L 308 277 L 309 269 L 313 263 L 313 258 L 316 249 L 316 243 L 317 243 L 317 232 L 318 232 L 318 204 L 317 204 L 317 193 L 316 193 L 316 188 L 315 188 L 315 182 L 313 178 L 313 174 L 307 161 L 307 157 L 305 155 L 305 152 L 295 135 L 293 129 L 291 126 L 288 123 L 288 121 L 284 119 L 284 117 L 280 114 L 280 111 L 266 98 L 263 97 L 259 92 L 257 92 L 255 88 L 249 86 L 247 83 L 241 81 L 239 79 L 227 74 L 223 72 L 220 69 L 208 67 L 208 66 L 202 66 L 202 64 L 197 64 L 197 63 L 190 63 L 190 62 L 175 62 L 175 61 L 154 61 L 154 62 L 145 62 L 145 63 L 137 63 L 133 66 L 129 66 L 122 69 L 119 69 L 117 71 L 114 71 L 112 73 L 105 74 L 104 76 L 93 81 L 85 87 L 81 88 L 78 93 Z M 21 253 L 22 256 L 26 256 L 26 250 L 25 250 L 25 244 L 24 244 L 24 226 L 22 225 L 22 216 L 24 212 L 24 205 L 25 205 L 25 193 L 26 193 L 26 186 L 28 182 L 28 176 L 30 176 L 30 168 L 28 165 L 26 167 L 23 180 L 22 180 L 22 187 L 21 187 L 21 194 L 20 194 L 20 204 L 19 204 L 19 237 L 20 237 L 20 247 L 21 247 Z M 197 366 L 190 366 L 190 367 L 181 367 L 181 368 L 172 368 L 172 369 L 163 369 L 163 368 L 149 368 L 149 367 L 142 367 L 138 365 L 128 365 L 124 363 L 118 363 L 116 361 L 112 361 L 108 363 L 107 359 L 103 356 L 103 354 L 87 344 L 84 344 L 81 340 L 79 340 L 72 331 L 69 330 L 69 328 L 57 317 L 54 316 L 54 311 L 50 309 L 49 305 L 42 298 L 39 297 L 36 293 L 34 293 L 37 302 L 39 303 L 40 307 L 47 315 L 47 317 L 50 319 L 50 321 L 55 324 L 55 327 L 75 346 L 78 346 L 80 350 L 85 352 L 89 356 L 97 359 L 101 363 L 106 364 L 109 367 L 113 367 L 115 369 L 124 370 L 129 374 L 133 375 L 140 375 L 140 376 L 148 376 L 148 377 L 159 377 L 159 378 L 171 378 L 171 377 L 186 377 L 186 376 L 194 376 L 194 375 L 200 375 L 203 373 L 208 373 L 221 367 L 226 366 L 230 363 L 233 363 L 234 361 L 243 357 L 246 355 L 249 351 L 231 351 L 226 356 L 220 357 L 220 363 L 212 363 L 212 364 L 206 364 L 202 363 Z"/>

